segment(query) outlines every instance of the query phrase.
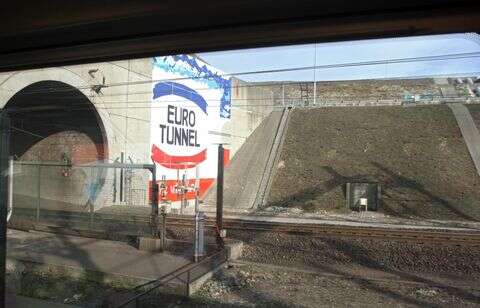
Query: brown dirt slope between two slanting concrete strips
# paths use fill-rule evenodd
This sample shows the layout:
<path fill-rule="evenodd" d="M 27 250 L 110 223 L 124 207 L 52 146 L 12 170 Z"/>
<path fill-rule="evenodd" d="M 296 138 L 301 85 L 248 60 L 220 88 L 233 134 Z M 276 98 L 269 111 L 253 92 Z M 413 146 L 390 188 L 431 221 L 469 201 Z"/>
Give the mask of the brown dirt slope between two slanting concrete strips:
<path fill-rule="evenodd" d="M 269 205 L 346 211 L 344 184 L 382 185 L 380 211 L 480 220 L 480 177 L 446 106 L 296 109 Z"/>

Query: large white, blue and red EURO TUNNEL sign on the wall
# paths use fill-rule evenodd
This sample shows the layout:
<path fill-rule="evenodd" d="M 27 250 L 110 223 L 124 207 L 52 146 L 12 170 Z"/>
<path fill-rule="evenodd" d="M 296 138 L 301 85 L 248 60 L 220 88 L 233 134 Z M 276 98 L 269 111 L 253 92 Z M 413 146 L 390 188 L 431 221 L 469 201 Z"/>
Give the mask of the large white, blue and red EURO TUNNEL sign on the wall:
<path fill-rule="evenodd" d="M 217 136 L 231 116 L 231 81 L 224 75 L 190 55 L 153 58 L 151 155 L 172 201 L 177 179 L 185 175 L 193 183 L 196 167 L 201 195 L 215 180 Z"/>

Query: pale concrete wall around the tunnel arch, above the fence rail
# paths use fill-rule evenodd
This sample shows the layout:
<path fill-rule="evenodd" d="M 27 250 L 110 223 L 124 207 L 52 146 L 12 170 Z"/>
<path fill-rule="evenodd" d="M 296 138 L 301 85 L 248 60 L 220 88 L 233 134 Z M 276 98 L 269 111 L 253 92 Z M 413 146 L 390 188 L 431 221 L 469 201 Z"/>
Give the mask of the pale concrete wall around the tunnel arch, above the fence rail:
<path fill-rule="evenodd" d="M 89 74 L 91 70 L 97 71 Z M 64 82 L 79 89 L 96 107 L 105 126 L 108 159 L 115 160 L 123 151 L 135 162 L 144 162 L 148 159 L 150 110 L 147 102 L 151 97 L 151 70 L 149 59 L 138 59 L 3 73 L 0 74 L 0 107 L 35 82 Z M 96 93 L 92 87 L 102 84 L 103 78 L 109 86 Z"/>

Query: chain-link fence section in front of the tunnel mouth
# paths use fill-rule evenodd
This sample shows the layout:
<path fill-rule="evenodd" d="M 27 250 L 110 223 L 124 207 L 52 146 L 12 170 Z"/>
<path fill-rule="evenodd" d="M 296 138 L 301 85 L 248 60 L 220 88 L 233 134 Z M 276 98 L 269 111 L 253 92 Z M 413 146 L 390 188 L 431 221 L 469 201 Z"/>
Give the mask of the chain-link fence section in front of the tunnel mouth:
<path fill-rule="evenodd" d="M 15 161 L 12 218 L 108 237 L 149 233 L 150 180 L 150 170 L 140 167 Z"/>

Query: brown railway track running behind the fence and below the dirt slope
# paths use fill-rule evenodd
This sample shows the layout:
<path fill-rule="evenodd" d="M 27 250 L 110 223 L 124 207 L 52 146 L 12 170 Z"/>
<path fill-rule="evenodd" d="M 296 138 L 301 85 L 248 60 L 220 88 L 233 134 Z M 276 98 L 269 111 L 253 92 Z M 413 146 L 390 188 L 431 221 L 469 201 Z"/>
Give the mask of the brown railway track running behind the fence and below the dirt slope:
<path fill-rule="evenodd" d="M 60 211 L 43 212 L 42 218 L 36 221 L 32 215 L 22 214 L 23 221 L 28 221 L 35 226 L 62 226 L 75 230 L 92 228 L 94 222 L 95 230 L 98 232 L 115 232 L 115 230 L 132 235 L 138 234 L 139 229 L 149 228 L 150 217 L 147 215 L 120 215 L 120 214 L 95 214 L 92 217 L 88 213 L 65 214 Z M 15 219 L 14 219 L 15 221 Z M 192 216 L 168 215 L 168 227 L 193 228 Z M 208 218 L 207 228 L 215 228 L 215 219 Z M 277 232 L 294 235 L 308 235 L 314 237 L 340 237 L 376 240 L 409 241 L 423 244 L 454 245 L 454 246 L 476 246 L 480 247 L 480 232 L 451 231 L 451 230 L 421 230 L 405 228 L 383 228 L 383 227 L 360 227 L 347 225 L 327 224 L 299 224 L 280 223 L 269 221 L 257 221 L 246 219 L 224 219 L 224 228 L 230 232 Z"/>

